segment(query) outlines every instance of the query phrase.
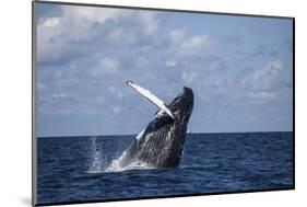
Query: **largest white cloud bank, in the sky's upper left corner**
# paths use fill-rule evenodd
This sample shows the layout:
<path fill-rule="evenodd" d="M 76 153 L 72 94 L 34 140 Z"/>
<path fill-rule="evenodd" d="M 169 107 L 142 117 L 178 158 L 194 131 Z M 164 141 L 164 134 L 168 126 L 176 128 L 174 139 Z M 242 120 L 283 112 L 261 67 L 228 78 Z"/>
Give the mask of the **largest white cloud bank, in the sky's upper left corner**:
<path fill-rule="evenodd" d="M 71 5 L 62 5 L 61 10 L 59 16 L 38 20 L 38 62 L 68 59 L 78 54 L 88 56 L 88 53 L 95 51 L 93 46 L 97 44 L 103 44 L 104 49 L 107 44 L 135 44 L 143 36 L 153 35 L 158 27 L 156 13 L 144 11 Z M 133 24 L 127 24 L 127 19 Z M 83 48 L 80 42 L 93 45 Z"/>

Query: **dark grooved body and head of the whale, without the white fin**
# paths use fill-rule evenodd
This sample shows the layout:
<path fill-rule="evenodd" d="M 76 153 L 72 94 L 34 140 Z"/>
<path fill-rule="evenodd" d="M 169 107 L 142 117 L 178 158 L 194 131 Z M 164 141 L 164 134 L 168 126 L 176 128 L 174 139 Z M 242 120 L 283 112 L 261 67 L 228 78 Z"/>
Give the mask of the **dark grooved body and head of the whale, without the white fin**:
<path fill-rule="evenodd" d="M 189 88 L 172 101 L 168 108 L 175 115 L 156 114 L 143 135 L 137 139 L 133 151 L 142 162 L 156 168 L 179 165 L 187 136 L 187 125 L 193 108 L 193 92 Z"/>

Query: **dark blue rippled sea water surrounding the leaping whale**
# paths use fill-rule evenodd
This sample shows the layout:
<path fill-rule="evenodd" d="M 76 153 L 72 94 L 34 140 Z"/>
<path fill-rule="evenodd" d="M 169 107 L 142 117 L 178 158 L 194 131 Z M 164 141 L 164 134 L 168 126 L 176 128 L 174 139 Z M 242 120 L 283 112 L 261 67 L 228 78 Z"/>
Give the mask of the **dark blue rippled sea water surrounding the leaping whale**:
<path fill-rule="evenodd" d="M 104 172 L 132 138 L 38 138 L 38 204 L 293 187 L 292 133 L 191 134 L 178 169 Z"/>

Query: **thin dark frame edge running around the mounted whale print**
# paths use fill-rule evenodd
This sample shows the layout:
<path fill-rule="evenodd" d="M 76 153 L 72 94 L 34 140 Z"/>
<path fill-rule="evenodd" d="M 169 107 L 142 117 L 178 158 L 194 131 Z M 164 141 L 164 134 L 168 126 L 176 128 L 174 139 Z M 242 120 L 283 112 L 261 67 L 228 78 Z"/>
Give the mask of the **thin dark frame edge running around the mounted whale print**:
<path fill-rule="evenodd" d="M 73 200 L 73 202 L 56 202 L 56 203 L 37 203 L 37 136 L 36 136 L 36 64 L 37 64 L 37 22 L 36 22 L 36 3 L 72 5 L 72 7 L 94 7 L 94 8 L 110 8 L 110 9 L 128 9 L 128 10 L 143 10 L 143 11 L 162 11 L 162 12 L 182 12 L 182 13 L 199 13 L 199 14 L 216 14 L 216 15 L 231 15 L 231 16 L 245 16 L 245 18 L 268 18 L 268 19 L 286 19 L 292 20 L 293 23 L 293 130 L 292 130 L 292 145 L 293 145 L 293 186 L 285 188 L 272 189 L 250 189 L 250 191 L 232 191 L 232 192 L 217 192 L 217 193 L 197 193 L 197 194 L 180 194 L 180 195 L 166 195 L 166 196 L 144 196 L 131 198 L 113 198 L 113 199 L 93 199 L 93 200 Z M 176 198 L 176 197 L 192 197 L 192 196 L 206 196 L 206 195 L 229 195 L 229 194 L 245 194 L 245 193 L 263 193 L 263 192 L 279 192 L 279 191 L 293 191 L 295 189 L 295 18 L 294 16 L 280 16 L 280 15 L 262 15 L 262 14 L 247 14 L 247 13 L 231 13 L 231 12 L 210 12 L 210 11 L 196 11 L 196 10 L 179 10 L 179 9 L 162 9 L 162 8 L 144 8 L 131 5 L 114 5 L 114 4 L 97 4 L 97 3 L 76 3 L 76 2 L 61 2 L 61 1 L 32 1 L 32 206 L 54 206 L 54 205 L 73 205 L 73 204 L 93 204 L 93 203 L 109 203 L 109 202 L 127 202 L 127 200 L 144 200 L 157 198 Z"/>

